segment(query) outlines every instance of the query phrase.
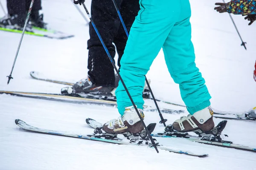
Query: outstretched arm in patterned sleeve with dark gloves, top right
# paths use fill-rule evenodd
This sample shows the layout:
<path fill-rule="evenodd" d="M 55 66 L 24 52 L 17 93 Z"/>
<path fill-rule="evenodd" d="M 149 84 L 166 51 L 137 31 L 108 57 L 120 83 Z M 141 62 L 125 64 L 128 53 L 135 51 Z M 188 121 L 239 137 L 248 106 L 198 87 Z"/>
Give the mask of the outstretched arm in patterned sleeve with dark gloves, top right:
<path fill-rule="evenodd" d="M 241 14 L 250 21 L 249 26 L 256 21 L 256 0 L 231 0 L 228 3 L 215 3 L 214 9 L 219 13 Z"/>

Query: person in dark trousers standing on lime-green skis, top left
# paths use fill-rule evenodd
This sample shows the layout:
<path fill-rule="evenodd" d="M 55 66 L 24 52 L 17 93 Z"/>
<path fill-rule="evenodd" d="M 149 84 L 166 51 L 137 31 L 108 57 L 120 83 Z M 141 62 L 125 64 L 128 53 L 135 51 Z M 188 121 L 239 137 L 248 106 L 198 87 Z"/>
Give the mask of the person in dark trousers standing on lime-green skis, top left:
<path fill-rule="evenodd" d="M 22 29 L 25 24 L 30 3 L 31 0 L 7 0 L 9 16 L 0 19 L 0 26 L 8 27 L 11 23 L 13 26 L 17 26 L 16 28 Z M 39 10 L 41 9 L 41 0 L 35 0 L 29 20 L 32 26 L 46 28 L 46 23 L 43 22 L 43 14 L 39 15 Z"/>

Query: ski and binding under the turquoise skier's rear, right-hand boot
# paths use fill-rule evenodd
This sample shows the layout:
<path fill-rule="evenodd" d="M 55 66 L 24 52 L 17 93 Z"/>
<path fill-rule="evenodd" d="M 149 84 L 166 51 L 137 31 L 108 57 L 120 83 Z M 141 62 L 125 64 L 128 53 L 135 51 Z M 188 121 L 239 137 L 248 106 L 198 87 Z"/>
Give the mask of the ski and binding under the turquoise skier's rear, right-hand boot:
<path fill-rule="evenodd" d="M 87 125 L 93 128 L 97 127 L 102 127 L 102 124 L 87 118 L 86 119 Z M 252 147 L 247 147 L 241 144 L 233 144 L 233 142 L 230 141 L 224 141 L 221 139 L 220 135 L 222 130 L 225 128 L 227 124 L 227 121 L 221 121 L 217 126 L 215 126 L 210 134 L 206 136 L 192 136 L 189 135 L 188 133 L 179 133 L 175 130 L 172 129 L 172 126 L 167 126 L 165 131 L 163 133 L 156 133 L 156 134 L 151 134 L 153 137 L 165 137 L 165 138 L 184 138 L 188 139 L 192 142 L 198 142 L 198 143 L 203 143 L 203 144 L 209 144 L 209 145 L 215 145 L 219 147 L 229 147 L 229 148 L 234 148 L 238 150 L 246 150 L 246 151 L 251 151 L 251 152 L 256 152 L 256 148 Z M 202 133 L 201 133 L 202 134 Z M 227 136 L 227 135 L 225 135 Z"/>

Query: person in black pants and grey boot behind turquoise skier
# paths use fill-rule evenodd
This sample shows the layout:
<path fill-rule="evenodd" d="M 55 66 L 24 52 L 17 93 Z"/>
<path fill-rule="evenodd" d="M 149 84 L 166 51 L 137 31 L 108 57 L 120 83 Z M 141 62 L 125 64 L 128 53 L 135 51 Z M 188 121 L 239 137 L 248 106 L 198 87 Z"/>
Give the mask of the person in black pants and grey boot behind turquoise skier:
<path fill-rule="evenodd" d="M 129 32 L 140 10 L 139 0 L 116 0 L 116 4 Z M 91 16 L 112 58 L 117 51 L 119 56 L 117 64 L 120 67 L 120 59 L 128 38 L 112 0 L 92 0 Z M 63 94 L 83 92 L 112 95 L 113 89 L 117 86 L 119 79 L 115 78 L 113 65 L 91 23 L 89 31 L 88 77 L 76 82 L 72 89 L 62 88 Z"/>

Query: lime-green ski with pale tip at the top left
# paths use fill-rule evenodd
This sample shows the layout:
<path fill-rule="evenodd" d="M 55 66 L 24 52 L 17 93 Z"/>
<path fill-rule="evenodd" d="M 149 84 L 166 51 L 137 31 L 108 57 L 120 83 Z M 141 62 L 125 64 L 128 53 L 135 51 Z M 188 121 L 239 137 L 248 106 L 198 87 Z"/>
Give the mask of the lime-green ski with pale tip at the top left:
<path fill-rule="evenodd" d="M 0 27 L 1 31 L 8 31 L 8 32 L 14 32 L 14 33 L 22 33 L 22 30 L 15 29 L 13 26 L 9 27 Z M 38 27 L 32 27 L 30 29 L 31 31 L 25 31 L 24 34 L 37 36 L 37 37 L 47 37 L 51 39 L 66 39 L 70 37 L 74 37 L 74 35 L 66 34 L 61 31 L 56 31 L 52 29 L 43 29 Z"/>

